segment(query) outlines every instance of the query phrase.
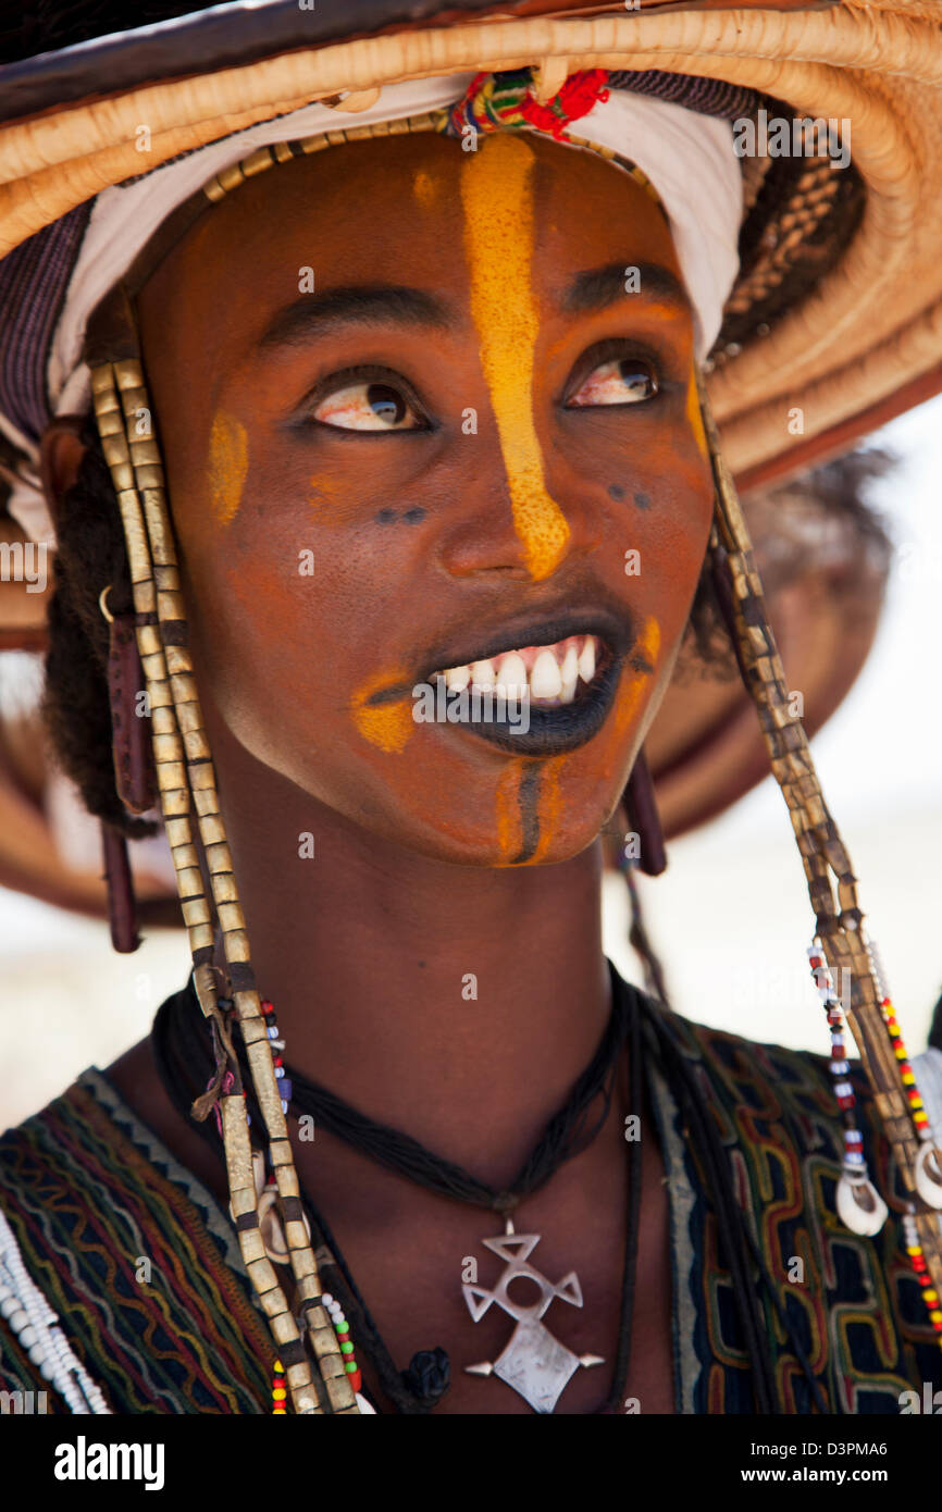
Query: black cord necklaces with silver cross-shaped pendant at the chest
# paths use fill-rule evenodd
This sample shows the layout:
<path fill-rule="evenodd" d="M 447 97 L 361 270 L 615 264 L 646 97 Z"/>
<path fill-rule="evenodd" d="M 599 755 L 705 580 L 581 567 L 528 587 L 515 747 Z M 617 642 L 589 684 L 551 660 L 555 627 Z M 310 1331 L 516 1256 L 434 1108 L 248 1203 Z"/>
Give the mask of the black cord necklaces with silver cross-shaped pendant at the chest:
<path fill-rule="evenodd" d="M 566 1282 L 553 1287 L 544 1276 L 541 1276 L 541 1273 L 535 1270 L 528 1259 L 531 1250 L 538 1243 L 540 1235 L 517 1235 L 514 1232 L 511 1214 L 525 1198 L 534 1194 L 546 1185 L 559 1166 L 562 1166 L 567 1160 L 572 1160 L 581 1151 L 587 1149 L 606 1122 L 611 1107 L 614 1074 L 626 1039 L 631 1039 L 631 1107 L 632 1110 L 640 1110 L 641 1107 L 641 1021 L 637 1007 L 637 993 L 632 987 L 627 987 L 621 981 L 614 968 L 609 968 L 609 971 L 612 980 L 612 1010 L 599 1049 L 573 1086 L 566 1105 L 553 1114 L 546 1125 L 540 1140 L 534 1146 L 534 1151 L 525 1161 L 516 1179 L 511 1182 L 511 1187 L 504 1191 L 494 1190 L 487 1182 L 482 1182 L 470 1175 L 461 1166 L 426 1151 L 417 1140 L 413 1140 L 411 1136 L 402 1134 L 387 1125 L 376 1123 L 357 1108 L 343 1102 L 343 1099 L 337 1098 L 334 1093 L 328 1092 L 325 1087 L 321 1087 L 290 1067 L 286 1067 L 292 1081 L 292 1104 L 295 1111 L 313 1116 L 337 1139 L 342 1139 L 352 1148 L 360 1149 L 378 1164 L 395 1170 L 399 1175 L 408 1176 L 426 1190 L 454 1201 L 488 1208 L 505 1220 L 507 1232 L 502 1237 L 484 1241 L 507 1263 L 505 1273 L 497 1282 L 497 1287 L 493 1293 L 488 1293 L 485 1288 L 476 1285 L 466 1285 L 463 1290 L 473 1317 L 484 1315 L 491 1302 L 497 1300 L 504 1311 L 517 1318 L 517 1328 L 514 1329 L 508 1347 L 499 1356 L 496 1364 L 484 1362 L 481 1365 L 466 1368 L 470 1368 L 472 1373 L 476 1374 L 490 1374 L 493 1371 L 502 1376 L 502 1379 L 513 1385 L 514 1390 L 519 1390 L 537 1411 L 543 1412 L 552 1411 L 556 1397 L 561 1394 L 572 1373 L 579 1365 L 588 1367 L 603 1364 L 603 1361 L 599 1356 L 591 1355 L 572 1355 L 564 1346 L 559 1346 L 558 1341 L 552 1340 L 552 1335 L 549 1335 L 549 1331 L 540 1321 L 549 1303 L 556 1296 L 566 1302 L 576 1302 L 581 1305 L 582 1296 L 579 1282 L 575 1273 L 570 1273 L 570 1276 L 566 1278 Z M 201 1090 L 198 1083 L 201 1070 L 204 1069 L 207 1074 L 212 1072 L 212 1051 L 206 1034 L 206 1025 L 203 1016 L 192 1012 L 192 1004 L 187 1004 L 186 1001 L 187 995 L 192 996 L 192 984 L 187 992 L 177 993 L 175 998 L 171 998 L 163 1004 L 157 1013 L 153 1030 L 153 1048 L 159 1075 L 174 1105 L 186 1114 L 189 1114 L 194 1096 Z M 183 1087 L 180 1086 L 181 1075 L 184 1080 Z M 245 1077 L 245 1086 L 246 1089 L 251 1089 L 251 1078 Z M 585 1122 L 588 1108 L 599 1093 L 603 1093 L 602 1113 L 587 1131 Z M 249 1090 L 249 1111 L 253 1113 L 253 1119 L 256 1119 L 259 1113 L 257 1108 L 253 1107 L 253 1102 L 254 1099 Z M 210 1139 L 210 1142 L 216 1145 L 213 1131 L 207 1128 L 207 1125 L 198 1123 L 197 1128 L 200 1128 Z M 620 1405 L 631 1359 L 631 1332 L 641 1207 L 640 1140 L 631 1142 L 627 1178 L 629 1204 L 618 1346 L 611 1391 L 603 1406 L 599 1409 L 600 1412 L 615 1411 L 617 1405 Z M 387 1393 L 398 1411 L 429 1411 L 448 1388 L 448 1356 L 440 1349 L 423 1350 L 413 1358 L 407 1371 L 396 1371 L 369 1309 L 354 1284 L 352 1275 L 349 1273 L 337 1244 L 330 1235 L 330 1229 L 327 1228 L 324 1217 L 318 1213 L 316 1205 L 307 1193 L 302 1191 L 302 1198 L 308 1210 L 308 1220 L 313 1225 L 311 1237 L 315 1241 L 319 1241 L 322 1247 L 328 1247 L 337 1270 L 336 1281 L 331 1282 L 331 1287 L 339 1294 L 348 1318 L 354 1323 L 355 1335 L 363 1340 L 364 1350 L 372 1356 L 372 1364 L 383 1390 Z M 508 1285 L 516 1275 L 526 1275 L 531 1281 L 535 1281 L 537 1285 L 541 1287 L 540 1303 L 531 1308 L 520 1308 L 508 1297 Z M 343 1284 L 340 1284 L 340 1278 Z M 538 1358 L 546 1353 L 546 1349 L 540 1349 L 540 1346 L 544 1346 L 546 1343 L 552 1343 L 555 1346 L 550 1350 L 556 1359 L 556 1368 L 552 1377 L 546 1370 L 541 1370 L 534 1364 L 535 1356 Z"/>

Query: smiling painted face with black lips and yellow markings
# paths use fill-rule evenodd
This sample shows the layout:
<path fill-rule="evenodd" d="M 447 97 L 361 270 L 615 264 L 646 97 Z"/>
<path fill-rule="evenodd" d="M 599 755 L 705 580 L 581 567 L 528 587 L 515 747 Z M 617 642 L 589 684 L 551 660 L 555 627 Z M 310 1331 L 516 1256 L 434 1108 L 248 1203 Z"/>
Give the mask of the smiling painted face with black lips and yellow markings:
<path fill-rule="evenodd" d="M 139 314 L 210 735 L 445 860 L 584 850 L 711 520 L 649 195 L 531 135 L 328 148 L 209 212 Z"/>

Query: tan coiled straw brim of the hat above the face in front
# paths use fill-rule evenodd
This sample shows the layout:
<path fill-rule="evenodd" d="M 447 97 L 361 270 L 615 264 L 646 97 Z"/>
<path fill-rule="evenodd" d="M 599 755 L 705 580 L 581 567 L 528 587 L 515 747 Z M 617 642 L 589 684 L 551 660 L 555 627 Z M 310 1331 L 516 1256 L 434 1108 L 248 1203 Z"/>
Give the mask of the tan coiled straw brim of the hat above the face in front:
<path fill-rule="evenodd" d="M 513 20 L 435 18 L 301 47 L 242 67 L 138 83 L 0 127 L 0 256 L 109 184 L 315 98 L 340 125 L 398 80 L 535 65 L 547 92 L 578 68 L 656 68 L 745 85 L 797 113 L 851 122 L 866 186 L 838 263 L 762 339 L 711 378 L 727 461 L 750 482 L 933 375 L 942 383 L 942 33 L 927 0 L 842 0 L 813 11 L 674 11 Z M 528 9 L 534 9 L 529 5 Z M 375 9 L 375 8 L 373 8 Z M 237 18 L 236 18 L 237 20 Z M 132 33 L 129 33 L 132 35 Z M 257 48 L 257 38 L 253 44 Z M 800 420 L 795 413 L 800 411 Z M 862 420 L 862 426 L 866 422 Z"/>

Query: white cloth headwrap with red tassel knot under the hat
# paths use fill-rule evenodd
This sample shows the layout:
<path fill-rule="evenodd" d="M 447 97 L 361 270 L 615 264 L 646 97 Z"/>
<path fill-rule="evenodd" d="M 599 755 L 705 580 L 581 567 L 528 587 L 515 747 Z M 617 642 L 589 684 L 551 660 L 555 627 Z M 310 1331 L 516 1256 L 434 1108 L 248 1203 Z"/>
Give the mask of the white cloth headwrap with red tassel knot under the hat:
<path fill-rule="evenodd" d="M 532 130 L 612 154 L 615 166 L 653 186 L 670 222 L 694 308 L 703 360 L 738 272 L 741 162 L 729 122 L 755 107 L 753 91 L 661 73 L 570 76 L 540 103 L 529 70 L 454 74 L 387 85 L 343 124 L 375 125 L 422 112 L 442 115 L 451 136 Z M 336 132 L 337 112 L 305 106 L 265 121 L 103 191 L 45 227 L 0 263 L 0 432 L 15 466 L 9 510 L 33 540 L 53 541 L 38 479 L 38 443 L 56 414 L 89 408 L 83 343 L 88 318 L 163 221 L 251 151 Z"/>

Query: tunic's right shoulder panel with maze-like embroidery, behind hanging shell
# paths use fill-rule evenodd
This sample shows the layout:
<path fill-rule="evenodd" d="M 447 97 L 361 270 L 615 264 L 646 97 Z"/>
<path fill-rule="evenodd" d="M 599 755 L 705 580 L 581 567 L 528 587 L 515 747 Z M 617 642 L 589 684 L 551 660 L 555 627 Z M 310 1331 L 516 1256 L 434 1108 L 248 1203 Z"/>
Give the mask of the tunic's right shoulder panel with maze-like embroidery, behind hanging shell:
<path fill-rule="evenodd" d="M 753 1234 L 756 1263 L 779 1293 L 815 1373 L 827 1380 L 832 1411 L 898 1412 L 900 1393 L 913 1382 L 942 1385 L 939 1337 L 904 1247 L 906 1194 L 860 1061 L 851 1061 L 848 1072 L 854 1117 L 871 1179 L 889 1205 L 888 1220 L 872 1237 L 851 1232 L 838 1216 L 845 1123 L 827 1055 L 750 1040 L 677 1015 L 664 1015 L 662 1022 L 696 1067 Z M 937 1052 L 930 1058 L 942 1060 Z M 916 1074 L 927 1069 L 925 1060 L 918 1058 Z M 689 1143 L 686 1154 L 697 1167 L 699 1152 Z M 694 1187 L 703 1191 L 706 1179 L 694 1176 Z M 711 1300 L 717 1267 L 709 1216 L 703 1222 L 697 1276 L 705 1312 L 720 1337 L 723 1323 Z"/>

